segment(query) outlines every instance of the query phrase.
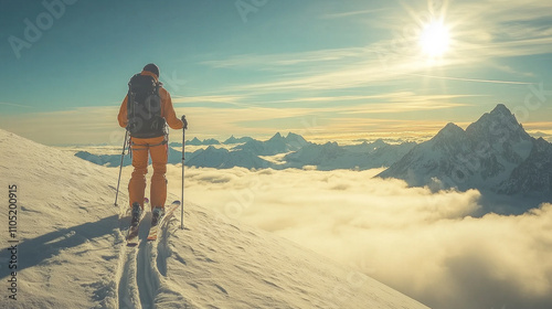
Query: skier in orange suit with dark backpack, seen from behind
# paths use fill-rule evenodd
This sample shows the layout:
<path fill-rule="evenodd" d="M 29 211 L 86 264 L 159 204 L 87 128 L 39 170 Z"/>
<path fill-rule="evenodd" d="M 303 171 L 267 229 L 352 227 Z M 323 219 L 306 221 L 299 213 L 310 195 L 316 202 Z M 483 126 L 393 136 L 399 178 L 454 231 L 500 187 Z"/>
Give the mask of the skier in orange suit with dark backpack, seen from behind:
<path fill-rule="evenodd" d="M 144 88 L 149 89 L 145 92 Z M 149 88 L 148 88 L 149 87 Z M 144 95 L 147 93 L 146 95 Z M 129 95 L 131 103 L 129 104 Z M 132 210 L 131 225 L 139 223 L 144 211 L 148 153 L 153 174 L 150 183 L 152 225 L 163 214 L 167 200 L 168 136 L 166 124 L 172 129 L 187 129 L 188 121 L 177 118 L 169 92 L 159 82 L 159 67 L 147 64 L 140 74 L 129 82 L 129 92 L 120 105 L 119 126 L 130 134 L 134 172 L 128 183 L 129 204 Z"/>

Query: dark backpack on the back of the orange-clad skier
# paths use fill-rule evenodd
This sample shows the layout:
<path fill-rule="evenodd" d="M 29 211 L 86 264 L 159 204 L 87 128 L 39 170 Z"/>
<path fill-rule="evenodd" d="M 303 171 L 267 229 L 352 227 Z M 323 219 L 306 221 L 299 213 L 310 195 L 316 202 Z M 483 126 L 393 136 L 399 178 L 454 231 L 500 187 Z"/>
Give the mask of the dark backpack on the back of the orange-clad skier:
<path fill-rule="evenodd" d="M 152 138 L 166 135 L 161 117 L 161 83 L 148 75 L 136 74 L 128 82 L 127 118 L 131 137 Z"/>

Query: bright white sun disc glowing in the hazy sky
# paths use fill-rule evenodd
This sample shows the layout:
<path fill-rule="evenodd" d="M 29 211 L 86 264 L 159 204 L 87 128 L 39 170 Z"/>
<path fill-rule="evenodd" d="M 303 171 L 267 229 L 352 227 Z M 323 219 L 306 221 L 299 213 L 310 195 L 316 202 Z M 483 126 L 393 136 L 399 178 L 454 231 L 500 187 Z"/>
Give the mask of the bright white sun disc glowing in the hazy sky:
<path fill-rule="evenodd" d="M 427 23 L 420 35 L 422 52 L 431 57 L 440 57 L 449 49 L 450 34 L 448 28 L 442 21 Z"/>

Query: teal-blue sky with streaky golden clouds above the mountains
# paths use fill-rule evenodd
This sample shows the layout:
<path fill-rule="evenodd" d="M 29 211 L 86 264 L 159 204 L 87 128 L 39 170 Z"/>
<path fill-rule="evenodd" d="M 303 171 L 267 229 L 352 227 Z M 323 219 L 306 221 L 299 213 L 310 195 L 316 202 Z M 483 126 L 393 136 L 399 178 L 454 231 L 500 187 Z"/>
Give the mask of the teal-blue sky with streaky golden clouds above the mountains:
<path fill-rule="evenodd" d="M 552 3 L 499 2 L 2 1 L 0 128 L 118 143 L 128 79 L 155 62 L 200 138 L 423 138 L 498 103 L 552 135 Z"/>

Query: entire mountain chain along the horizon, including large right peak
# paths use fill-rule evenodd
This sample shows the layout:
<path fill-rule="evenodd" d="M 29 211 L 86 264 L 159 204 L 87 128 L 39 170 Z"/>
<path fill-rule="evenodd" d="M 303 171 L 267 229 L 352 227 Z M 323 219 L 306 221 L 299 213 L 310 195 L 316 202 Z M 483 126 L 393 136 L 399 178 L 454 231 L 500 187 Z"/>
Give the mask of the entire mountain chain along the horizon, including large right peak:
<path fill-rule="evenodd" d="M 320 145 L 293 132 L 285 137 L 278 132 L 265 141 L 232 136 L 222 143 L 235 146 L 229 150 L 216 147 L 221 142 L 214 139 L 187 141 L 187 145 L 209 147 L 187 153 L 185 164 L 219 169 L 316 167 L 318 170 L 389 167 L 376 177 L 402 179 L 412 187 L 428 185 L 435 190 L 474 188 L 498 194 L 552 195 L 552 145 L 529 136 L 502 104 L 466 130 L 450 122 L 420 145 L 390 145 L 381 139 L 352 146 Z M 171 146 L 181 147 L 180 143 Z M 267 158 L 276 154 L 280 154 L 277 160 Z M 120 154 L 79 151 L 75 156 L 102 166 L 120 163 Z M 169 163 L 180 162 L 181 152 L 170 148 Z M 130 164 L 128 156 L 124 164 Z"/>

